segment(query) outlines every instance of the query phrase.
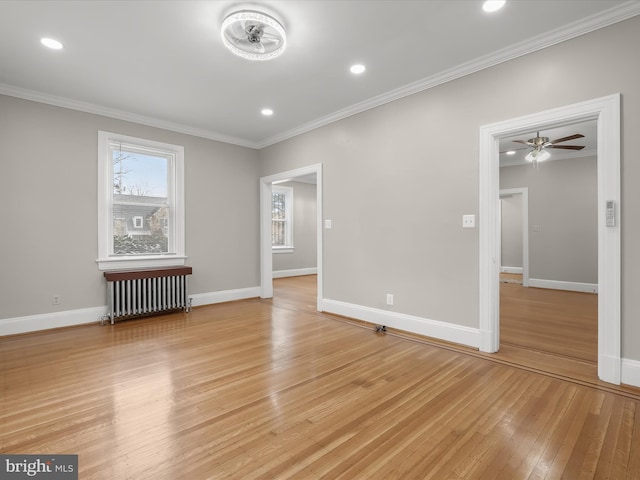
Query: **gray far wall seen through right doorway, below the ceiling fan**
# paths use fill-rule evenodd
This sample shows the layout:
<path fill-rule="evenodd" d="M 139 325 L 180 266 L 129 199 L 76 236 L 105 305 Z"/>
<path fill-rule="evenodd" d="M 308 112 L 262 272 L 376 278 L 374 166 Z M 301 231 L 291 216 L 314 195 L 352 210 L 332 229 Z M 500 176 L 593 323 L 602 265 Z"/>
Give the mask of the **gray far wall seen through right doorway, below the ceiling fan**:
<path fill-rule="evenodd" d="M 598 283 L 596 169 L 595 157 L 500 169 L 500 188 L 529 188 L 531 278 Z"/>

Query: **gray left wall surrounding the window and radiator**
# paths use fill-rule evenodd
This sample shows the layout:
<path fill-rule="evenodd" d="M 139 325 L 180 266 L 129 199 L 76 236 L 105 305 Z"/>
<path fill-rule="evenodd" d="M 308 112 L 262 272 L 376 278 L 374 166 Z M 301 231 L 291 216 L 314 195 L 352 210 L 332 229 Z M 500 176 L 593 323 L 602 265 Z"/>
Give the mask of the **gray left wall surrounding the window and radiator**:
<path fill-rule="evenodd" d="M 257 151 L 0 96 L 0 318 L 106 305 L 98 130 L 185 147 L 190 293 L 260 284 Z"/>

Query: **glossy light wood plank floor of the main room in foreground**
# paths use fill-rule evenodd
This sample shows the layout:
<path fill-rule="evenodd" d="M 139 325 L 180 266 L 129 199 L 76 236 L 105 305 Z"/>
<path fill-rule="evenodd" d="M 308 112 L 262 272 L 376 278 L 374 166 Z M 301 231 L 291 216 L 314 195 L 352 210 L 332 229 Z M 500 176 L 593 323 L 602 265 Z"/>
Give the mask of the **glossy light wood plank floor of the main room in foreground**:
<path fill-rule="evenodd" d="M 0 338 L 0 451 L 77 453 L 83 480 L 640 478 L 640 396 L 376 334 L 287 280 Z"/>

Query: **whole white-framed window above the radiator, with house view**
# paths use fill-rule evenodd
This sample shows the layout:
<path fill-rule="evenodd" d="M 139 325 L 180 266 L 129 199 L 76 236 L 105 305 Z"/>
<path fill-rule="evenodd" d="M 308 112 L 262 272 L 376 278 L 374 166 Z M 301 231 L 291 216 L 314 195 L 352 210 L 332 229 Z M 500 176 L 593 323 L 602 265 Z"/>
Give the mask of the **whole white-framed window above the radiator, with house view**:
<path fill-rule="evenodd" d="M 184 148 L 98 134 L 101 270 L 184 265 Z"/>

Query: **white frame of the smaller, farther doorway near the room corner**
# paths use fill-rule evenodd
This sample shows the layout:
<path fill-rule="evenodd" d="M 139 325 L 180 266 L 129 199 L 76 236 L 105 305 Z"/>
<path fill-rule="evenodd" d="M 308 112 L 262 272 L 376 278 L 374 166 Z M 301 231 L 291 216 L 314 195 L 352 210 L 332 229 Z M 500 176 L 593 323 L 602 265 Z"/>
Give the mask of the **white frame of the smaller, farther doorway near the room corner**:
<path fill-rule="evenodd" d="M 322 311 L 322 164 L 309 165 L 260 178 L 260 297 L 273 297 L 273 251 L 271 248 L 271 186 L 297 177 L 316 175 L 317 309 Z"/>

